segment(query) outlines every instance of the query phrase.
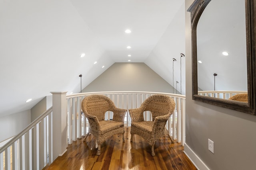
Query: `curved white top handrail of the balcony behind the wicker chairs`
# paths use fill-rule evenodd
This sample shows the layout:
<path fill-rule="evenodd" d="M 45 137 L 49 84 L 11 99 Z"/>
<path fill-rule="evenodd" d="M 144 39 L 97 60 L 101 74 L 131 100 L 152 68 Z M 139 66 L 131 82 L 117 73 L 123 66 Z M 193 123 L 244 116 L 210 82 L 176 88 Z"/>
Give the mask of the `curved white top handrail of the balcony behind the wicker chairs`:
<path fill-rule="evenodd" d="M 139 91 L 117 91 L 117 92 L 85 92 L 85 93 L 76 93 L 76 94 L 67 94 L 66 98 L 74 98 L 74 97 L 79 97 L 79 96 L 86 96 L 87 94 L 133 94 L 133 93 L 137 93 L 137 94 L 165 94 L 170 96 L 170 94 L 172 93 L 163 93 L 163 92 L 139 92 Z M 182 94 L 172 94 L 172 96 L 174 97 L 178 97 L 178 98 L 182 98 L 182 99 L 186 99 L 185 95 Z"/>

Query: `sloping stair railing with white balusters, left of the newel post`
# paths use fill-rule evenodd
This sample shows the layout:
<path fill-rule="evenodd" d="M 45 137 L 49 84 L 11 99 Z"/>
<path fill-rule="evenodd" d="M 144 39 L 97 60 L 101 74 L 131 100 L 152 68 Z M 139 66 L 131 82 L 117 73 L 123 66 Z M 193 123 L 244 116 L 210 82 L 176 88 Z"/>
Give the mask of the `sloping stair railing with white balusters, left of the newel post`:
<path fill-rule="evenodd" d="M 0 148 L 0 169 L 39 170 L 51 164 L 51 124 L 52 107 Z"/>

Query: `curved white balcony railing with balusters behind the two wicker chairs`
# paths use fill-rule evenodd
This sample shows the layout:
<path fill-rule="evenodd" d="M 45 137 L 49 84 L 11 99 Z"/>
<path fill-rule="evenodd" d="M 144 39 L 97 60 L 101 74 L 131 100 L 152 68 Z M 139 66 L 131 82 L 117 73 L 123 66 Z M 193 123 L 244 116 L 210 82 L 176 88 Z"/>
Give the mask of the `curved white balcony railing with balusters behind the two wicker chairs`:
<path fill-rule="evenodd" d="M 179 143 L 185 143 L 185 96 L 180 94 L 169 94 L 159 92 L 90 92 L 67 95 L 67 110 L 68 110 L 68 144 L 80 139 L 88 133 L 88 121 L 81 113 L 81 102 L 84 97 L 91 94 L 103 94 L 110 98 L 116 107 L 122 109 L 134 109 L 140 107 L 142 102 L 153 94 L 165 94 L 174 99 L 176 109 L 170 119 L 167 121 L 166 127 L 173 139 L 177 139 Z M 113 113 L 107 112 L 105 119 L 112 119 Z M 152 116 L 150 112 L 144 113 L 146 121 L 151 121 Z M 129 127 L 131 123 L 130 115 L 126 113 L 125 124 Z"/>

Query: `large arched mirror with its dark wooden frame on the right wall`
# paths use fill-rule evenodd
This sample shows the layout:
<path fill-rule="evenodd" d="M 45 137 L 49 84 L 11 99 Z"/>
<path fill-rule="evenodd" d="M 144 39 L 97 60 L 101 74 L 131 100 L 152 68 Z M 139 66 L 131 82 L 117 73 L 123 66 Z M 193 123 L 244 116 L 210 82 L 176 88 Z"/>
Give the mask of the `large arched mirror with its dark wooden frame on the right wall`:
<path fill-rule="evenodd" d="M 256 115 L 255 1 L 195 0 L 188 9 L 193 100 Z"/>

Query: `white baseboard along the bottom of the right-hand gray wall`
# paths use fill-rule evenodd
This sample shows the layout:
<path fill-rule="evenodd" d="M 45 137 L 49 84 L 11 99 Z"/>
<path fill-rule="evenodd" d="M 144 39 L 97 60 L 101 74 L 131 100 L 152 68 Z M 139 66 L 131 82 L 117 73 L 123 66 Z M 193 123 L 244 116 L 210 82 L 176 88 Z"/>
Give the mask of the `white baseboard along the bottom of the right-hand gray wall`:
<path fill-rule="evenodd" d="M 196 153 L 186 144 L 184 143 L 184 153 L 188 156 L 188 158 L 191 160 L 191 162 L 196 166 L 198 170 L 210 170 L 204 164 L 204 162 L 196 155 Z"/>

